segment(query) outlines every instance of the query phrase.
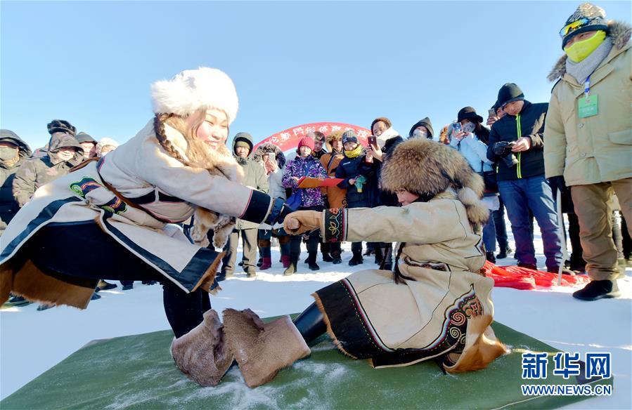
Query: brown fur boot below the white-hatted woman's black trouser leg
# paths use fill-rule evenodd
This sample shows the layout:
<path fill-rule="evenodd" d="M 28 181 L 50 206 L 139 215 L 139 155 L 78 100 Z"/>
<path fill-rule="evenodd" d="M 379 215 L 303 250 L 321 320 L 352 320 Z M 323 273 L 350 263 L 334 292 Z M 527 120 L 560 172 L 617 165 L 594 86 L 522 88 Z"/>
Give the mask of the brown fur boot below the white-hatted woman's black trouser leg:
<path fill-rule="evenodd" d="M 233 354 L 224 343 L 219 315 L 214 310 L 207 310 L 195 329 L 174 338 L 171 352 L 178 369 L 202 386 L 217 385 L 233 363 Z"/>

